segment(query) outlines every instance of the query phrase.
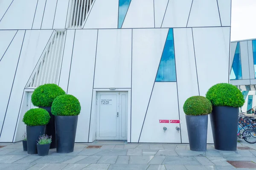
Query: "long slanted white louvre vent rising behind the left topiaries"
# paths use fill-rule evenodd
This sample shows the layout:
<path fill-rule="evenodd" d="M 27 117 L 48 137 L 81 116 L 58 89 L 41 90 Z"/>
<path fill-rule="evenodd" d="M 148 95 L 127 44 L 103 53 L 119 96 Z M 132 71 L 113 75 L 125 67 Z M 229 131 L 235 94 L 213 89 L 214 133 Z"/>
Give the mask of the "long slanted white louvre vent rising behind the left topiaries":
<path fill-rule="evenodd" d="M 26 88 L 36 88 L 47 83 L 58 84 L 64 41 L 65 31 L 55 31 L 40 61 L 36 65 Z"/>

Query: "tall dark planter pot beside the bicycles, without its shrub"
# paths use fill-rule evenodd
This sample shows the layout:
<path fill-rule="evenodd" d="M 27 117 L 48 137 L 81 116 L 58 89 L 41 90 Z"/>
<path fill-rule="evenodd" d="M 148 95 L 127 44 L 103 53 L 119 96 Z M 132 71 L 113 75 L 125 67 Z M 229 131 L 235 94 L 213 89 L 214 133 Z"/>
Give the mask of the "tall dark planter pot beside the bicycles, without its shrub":
<path fill-rule="evenodd" d="M 234 151 L 237 147 L 237 122 L 239 108 L 213 106 L 210 114 L 214 147 Z"/>

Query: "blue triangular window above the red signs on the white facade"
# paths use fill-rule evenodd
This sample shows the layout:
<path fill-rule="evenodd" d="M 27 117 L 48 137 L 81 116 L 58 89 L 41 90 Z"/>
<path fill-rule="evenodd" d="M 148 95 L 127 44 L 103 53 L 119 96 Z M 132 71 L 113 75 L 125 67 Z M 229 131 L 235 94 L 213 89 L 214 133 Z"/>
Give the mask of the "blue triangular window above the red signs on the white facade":
<path fill-rule="evenodd" d="M 173 29 L 170 28 L 157 71 L 156 82 L 176 82 Z"/>

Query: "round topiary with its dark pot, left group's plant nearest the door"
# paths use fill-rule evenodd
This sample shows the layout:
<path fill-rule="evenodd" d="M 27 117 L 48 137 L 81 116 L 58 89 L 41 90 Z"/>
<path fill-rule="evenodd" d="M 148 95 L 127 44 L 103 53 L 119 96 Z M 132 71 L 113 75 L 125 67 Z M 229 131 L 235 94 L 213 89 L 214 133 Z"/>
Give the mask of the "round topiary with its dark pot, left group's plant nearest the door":
<path fill-rule="evenodd" d="M 52 114 L 55 115 L 57 153 L 74 151 L 78 115 L 81 111 L 79 100 L 70 94 L 54 99 Z"/>

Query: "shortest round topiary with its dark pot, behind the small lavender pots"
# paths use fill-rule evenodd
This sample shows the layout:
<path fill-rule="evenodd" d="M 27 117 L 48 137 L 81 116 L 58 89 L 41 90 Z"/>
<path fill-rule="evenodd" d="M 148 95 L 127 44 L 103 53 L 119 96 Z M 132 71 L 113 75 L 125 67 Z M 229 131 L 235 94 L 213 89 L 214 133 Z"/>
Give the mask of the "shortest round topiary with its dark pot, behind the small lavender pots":
<path fill-rule="evenodd" d="M 42 108 L 30 109 L 24 114 L 22 121 L 26 125 L 28 154 L 37 154 L 37 140 L 45 133 L 49 120 L 49 113 Z"/>

